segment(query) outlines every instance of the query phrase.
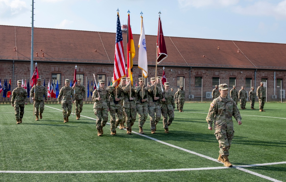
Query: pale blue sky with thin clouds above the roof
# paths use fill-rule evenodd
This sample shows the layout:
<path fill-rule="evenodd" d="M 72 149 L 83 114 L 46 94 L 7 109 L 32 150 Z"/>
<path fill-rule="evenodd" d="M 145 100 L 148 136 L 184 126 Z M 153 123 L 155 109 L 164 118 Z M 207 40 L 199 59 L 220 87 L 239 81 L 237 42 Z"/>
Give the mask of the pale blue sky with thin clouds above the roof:
<path fill-rule="evenodd" d="M 32 0 L 0 0 L 0 25 L 31 26 Z M 286 0 L 35 0 L 34 26 L 116 31 L 130 10 L 132 33 L 157 35 L 161 11 L 164 36 L 286 43 Z M 114 37 L 115 38 L 115 37 Z"/>

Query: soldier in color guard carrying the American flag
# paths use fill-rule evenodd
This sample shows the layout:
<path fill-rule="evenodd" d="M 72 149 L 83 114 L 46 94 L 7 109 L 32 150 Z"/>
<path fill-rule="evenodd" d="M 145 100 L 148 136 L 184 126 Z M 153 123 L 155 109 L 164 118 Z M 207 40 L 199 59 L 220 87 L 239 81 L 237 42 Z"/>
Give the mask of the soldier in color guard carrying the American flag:
<path fill-rule="evenodd" d="M 112 77 L 113 80 L 113 77 Z M 116 86 L 117 81 L 114 82 L 112 86 L 107 87 L 109 93 L 109 112 L 110 112 L 110 131 L 111 133 L 116 133 L 116 128 L 119 124 L 122 124 L 122 105 L 121 101 L 124 99 L 124 94 L 121 89 L 117 88 L 116 95 Z M 116 117 L 117 119 L 116 119 Z M 123 129 L 123 128 L 121 128 Z"/>

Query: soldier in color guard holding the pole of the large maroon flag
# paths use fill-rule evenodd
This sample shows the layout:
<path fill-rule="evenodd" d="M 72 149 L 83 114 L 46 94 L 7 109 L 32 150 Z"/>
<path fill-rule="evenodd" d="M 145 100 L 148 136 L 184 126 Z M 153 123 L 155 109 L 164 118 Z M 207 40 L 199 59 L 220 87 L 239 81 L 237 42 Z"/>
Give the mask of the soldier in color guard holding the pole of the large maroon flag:
<path fill-rule="evenodd" d="M 161 119 L 161 108 L 160 108 L 160 96 L 162 91 L 158 89 L 156 86 L 156 95 L 155 95 L 155 85 L 156 78 L 150 78 L 151 86 L 147 87 L 148 94 L 149 94 L 149 102 L 148 102 L 148 109 L 149 109 L 149 116 L 150 116 L 150 127 L 151 133 L 154 134 L 156 131 L 156 124 Z M 156 114 L 156 116 L 155 116 Z"/>

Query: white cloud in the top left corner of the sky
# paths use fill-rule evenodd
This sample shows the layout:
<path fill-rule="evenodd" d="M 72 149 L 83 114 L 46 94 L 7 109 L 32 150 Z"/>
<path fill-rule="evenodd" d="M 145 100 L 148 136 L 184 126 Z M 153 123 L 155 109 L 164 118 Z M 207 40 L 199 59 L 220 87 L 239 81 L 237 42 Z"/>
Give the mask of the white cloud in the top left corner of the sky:
<path fill-rule="evenodd" d="M 11 18 L 29 11 L 26 2 L 21 0 L 0 0 L 0 17 Z"/>

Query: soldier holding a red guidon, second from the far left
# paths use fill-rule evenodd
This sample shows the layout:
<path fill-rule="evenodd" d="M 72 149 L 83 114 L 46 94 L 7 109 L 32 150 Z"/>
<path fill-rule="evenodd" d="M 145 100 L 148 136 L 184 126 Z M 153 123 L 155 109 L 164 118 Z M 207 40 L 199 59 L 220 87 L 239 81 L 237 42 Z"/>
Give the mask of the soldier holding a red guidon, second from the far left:
<path fill-rule="evenodd" d="M 36 108 L 35 109 L 36 121 L 39 120 L 39 106 L 40 106 L 40 119 L 43 118 L 42 113 L 44 112 L 45 102 L 47 102 L 48 98 L 47 89 L 43 85 L 41 85 L 41 82 L 42 82 L 41 78 L 38 78 L 37 85 L 34 85 L 31 88 L 30 92 L 30 97 L 33 99 Z"/>

